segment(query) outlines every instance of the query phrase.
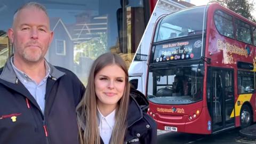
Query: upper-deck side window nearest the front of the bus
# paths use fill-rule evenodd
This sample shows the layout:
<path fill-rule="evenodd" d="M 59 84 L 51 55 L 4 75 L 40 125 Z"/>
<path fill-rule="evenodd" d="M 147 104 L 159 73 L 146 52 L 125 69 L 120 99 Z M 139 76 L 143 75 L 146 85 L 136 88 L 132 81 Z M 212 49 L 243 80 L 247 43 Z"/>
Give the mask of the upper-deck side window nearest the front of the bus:
<path fill-rule="evenodd" d="M 225 35 L 230 38 L 235 38 L 233 17 L 231 15 L 219 10 L 215 11 L 214 23 L 221 35 Z"/>

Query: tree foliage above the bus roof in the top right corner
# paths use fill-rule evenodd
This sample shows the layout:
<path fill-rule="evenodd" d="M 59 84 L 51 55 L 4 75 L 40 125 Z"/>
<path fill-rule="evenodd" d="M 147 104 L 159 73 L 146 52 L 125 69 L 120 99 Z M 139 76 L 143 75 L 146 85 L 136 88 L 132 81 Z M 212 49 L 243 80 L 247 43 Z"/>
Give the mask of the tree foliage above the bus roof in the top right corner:
<path fill-rule="evenodd" d="M 217 0 L 221 5 L 227 7 L 229 10 L 234 11 L 243 17 L 256 22 L 251 14 L 253 11 L 254 3 L 250 0 Z"/>

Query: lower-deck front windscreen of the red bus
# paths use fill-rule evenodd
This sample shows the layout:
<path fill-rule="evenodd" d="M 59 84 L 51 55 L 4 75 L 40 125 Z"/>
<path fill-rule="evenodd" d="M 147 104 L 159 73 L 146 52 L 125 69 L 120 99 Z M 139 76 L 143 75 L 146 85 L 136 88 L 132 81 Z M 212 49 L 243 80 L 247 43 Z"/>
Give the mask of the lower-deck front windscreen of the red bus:
<path fill-rule="evenodd" d="M 198 72 L 197 66 L 149 70 L 149 101 L 182 105 L 202 100 L 203 75 Z"/>

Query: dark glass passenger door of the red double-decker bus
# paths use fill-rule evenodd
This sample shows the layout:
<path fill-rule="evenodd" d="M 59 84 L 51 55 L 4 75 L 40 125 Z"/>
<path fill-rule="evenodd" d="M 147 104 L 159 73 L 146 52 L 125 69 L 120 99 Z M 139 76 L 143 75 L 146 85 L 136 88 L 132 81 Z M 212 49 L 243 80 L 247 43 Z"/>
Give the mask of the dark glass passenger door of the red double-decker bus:
<path fill-rule="evenodd" d="M 209 68 L 207 75 L 207 105 L 212 118 L 212 132 L 235 126 L 234 116 L 234 71 Z"/>

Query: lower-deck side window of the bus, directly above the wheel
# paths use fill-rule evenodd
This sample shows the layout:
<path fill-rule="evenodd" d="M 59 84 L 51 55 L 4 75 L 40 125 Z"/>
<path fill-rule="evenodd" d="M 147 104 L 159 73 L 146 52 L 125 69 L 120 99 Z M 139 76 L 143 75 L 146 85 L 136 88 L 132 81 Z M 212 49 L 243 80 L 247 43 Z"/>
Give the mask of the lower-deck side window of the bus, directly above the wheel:
<path fill-rule="evenodd" d="M 238 94 L 254 93 L 254 74 L 252 71 L 238 70 Z"/>

